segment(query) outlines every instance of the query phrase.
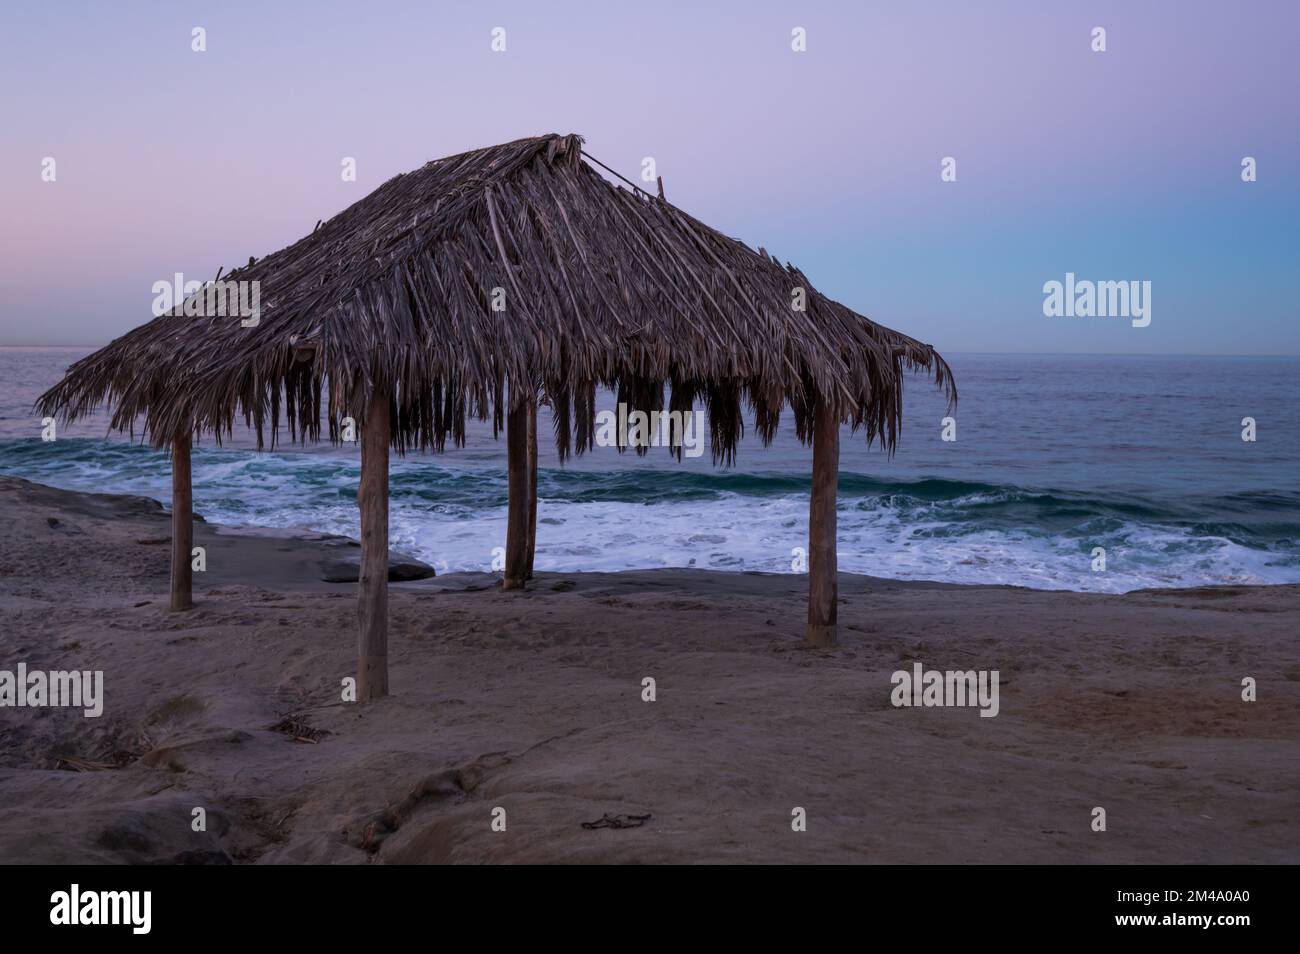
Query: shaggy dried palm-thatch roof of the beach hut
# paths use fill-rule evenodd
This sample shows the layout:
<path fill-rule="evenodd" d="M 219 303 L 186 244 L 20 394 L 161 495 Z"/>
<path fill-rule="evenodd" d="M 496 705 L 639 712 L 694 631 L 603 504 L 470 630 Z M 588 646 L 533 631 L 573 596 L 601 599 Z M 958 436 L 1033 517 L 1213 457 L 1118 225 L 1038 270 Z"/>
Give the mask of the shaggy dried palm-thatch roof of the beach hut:
<path fill-rule="evenodd" d="M 714 459 L 729 461 L 742 402 L 764 442 L 786 404 L 807 442 L 820 404 L 890 451 L 905 372 L 932 373 L 956 402 L 931 346 L 663 198 L 611 183 L 581 147 L 543 135 L 398 175 L 222 278 L 260 283 L 256 326 L 178 305 L 74 364 L 38 409 L 72 421 L 108 404 L 112 429 L 139 425 L 157 446 L 186 432 L 220 442 L 242 417 L 261 447 L 282 422 L 318 441 L 322 395 L 337 442 L 339 419 L 364 426 L 380 387 L 404 452 L 463 443 L 471 416 L 499 429 L 540 393 L 564 459 L 594 442 L 599 386 L 644 411 L 662 411 L 667 387 L 670 409 L 705 404 Z"/>

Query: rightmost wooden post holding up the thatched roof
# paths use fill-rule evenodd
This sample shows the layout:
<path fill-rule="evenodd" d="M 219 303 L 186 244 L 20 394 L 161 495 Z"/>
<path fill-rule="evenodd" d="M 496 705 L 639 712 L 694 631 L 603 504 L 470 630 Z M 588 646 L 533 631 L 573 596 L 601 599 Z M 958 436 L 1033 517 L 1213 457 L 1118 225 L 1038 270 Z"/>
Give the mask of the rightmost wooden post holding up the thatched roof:
<path fill-rule="evenodd" d="M 819 404 L 812 428 L 812 499 L 809 507 L 809 628 L 805 643 L 835 646 L 838 558 L 835 498 L 840 473 L 840 419 Z"/>

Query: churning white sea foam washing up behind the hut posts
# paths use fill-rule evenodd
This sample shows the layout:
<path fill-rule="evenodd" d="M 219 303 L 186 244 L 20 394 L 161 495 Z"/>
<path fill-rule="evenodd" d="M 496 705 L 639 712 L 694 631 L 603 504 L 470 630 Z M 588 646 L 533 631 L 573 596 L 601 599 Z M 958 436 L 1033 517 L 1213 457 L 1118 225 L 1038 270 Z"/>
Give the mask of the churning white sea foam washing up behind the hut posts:
<path fill-rule="evenodd" d="M 121 445 L 86 442 L 72 458 L 29 461 L 22 473 L 83 490 L 162 500 L 169 493 L 165 455 Z M 202 451 L 195 507 L 217 524 L 356 537 L 358 477 L 355 459 L 329 454 Z M 569 472 L 555 480 L 563 493 L 547 496 L 550 480 L 543 474 L 536 559 L 541 571 L 699 567 L 783 573 L 796 572 L 793 551 L 806 546 L 806 494 L 734 493 L 707 482 L 676 493 L 655 482 L 662 478 L 627 472 Z M 629 480 L 638 482 L 619 483 Z M 1060 509 L 1074 508 L 1072 500 L 1015 489 L 975 489 L 940 499 L 926 499 L 927 493 L 933 491 L 842 493 L 840 569 L 1098 593 L 1300 582 L 1294 551 L 1275 554 L 1157 520 L 1092 513 L 1062 524 Z M 604 499 L 610 496 L 621 499 Z M 651 500 L 642 503 L 641 496 Z M 1022 511 L 1028 515 L 1023 521 Z M 1053 515 L 1062 525 L 1049 530 L 1044 524 Z M 390 521 L 393 546 L 439 572 L 489 569 L 493 548 L 506 541 L 504 476 L 498 468 L 395 461 Z M 1093 546 L 1106 548 L 1102 573 L 1091 569 Z"/>

